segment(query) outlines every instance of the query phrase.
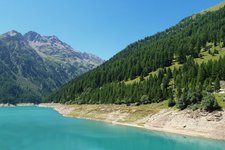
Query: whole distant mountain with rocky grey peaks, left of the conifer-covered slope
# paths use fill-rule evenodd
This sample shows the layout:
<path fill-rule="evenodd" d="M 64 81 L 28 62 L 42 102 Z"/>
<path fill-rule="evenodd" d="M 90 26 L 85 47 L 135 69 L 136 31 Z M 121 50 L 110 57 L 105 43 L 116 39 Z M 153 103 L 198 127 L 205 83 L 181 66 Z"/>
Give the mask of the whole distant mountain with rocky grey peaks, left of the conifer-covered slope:
<path fill-rule="evenodd" d="M 56 36 L 10 31 L 0 36 L 0 102 L 37 102 L 103 62 Z"/>

